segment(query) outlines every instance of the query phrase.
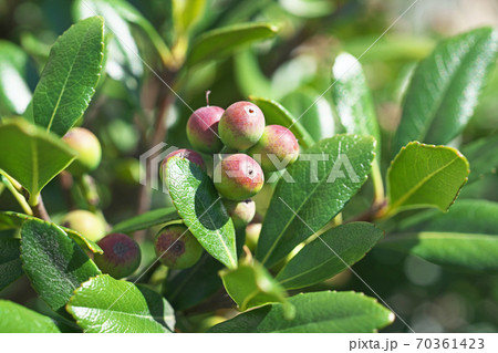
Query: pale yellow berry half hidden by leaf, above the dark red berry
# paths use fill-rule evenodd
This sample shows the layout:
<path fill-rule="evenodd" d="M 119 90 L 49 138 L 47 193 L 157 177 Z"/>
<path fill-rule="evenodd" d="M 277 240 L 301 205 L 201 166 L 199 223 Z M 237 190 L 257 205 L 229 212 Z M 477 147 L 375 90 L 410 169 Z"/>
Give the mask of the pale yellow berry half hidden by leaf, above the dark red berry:
<path fill-rule="evenodd" d="M 83 209 L 65 215 L 61 225 L 82 233 L 92 241 L 98 241 L 105 236 L 105 222 L 98 216 Z"/>

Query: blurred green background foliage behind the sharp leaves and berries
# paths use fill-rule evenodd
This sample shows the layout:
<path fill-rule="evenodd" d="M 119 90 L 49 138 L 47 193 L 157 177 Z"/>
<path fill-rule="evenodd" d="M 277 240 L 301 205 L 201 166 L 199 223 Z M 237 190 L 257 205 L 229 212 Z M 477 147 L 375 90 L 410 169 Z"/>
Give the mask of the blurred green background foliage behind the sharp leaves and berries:
<path fill-rule="evenodd" d="M 28 91 L 32 91 L 39 80 L 50 45 L 84 15 L 74 10 L 75 2 L 0 0 L 0 45 L 8 45 L 8 41 L 21 49 L 15 63 L 25 70 Z M 141 204 L 144 190 L 138 183 L 138 157 L 151 147 L 158 128 L 166 136 L 160 141 L 188 146 L 185 125 L 191 112 L 169 94 L 164 83 L 172 85 L 194 110 L 205 105 L 206 90 L 211 91 L 210 103 L 222 107 L 247 100 L 249 95 L 274 98 L 297 116 L 304 113 L 301 122 L 313 137 L 326 137 L 340 132 L 334 124 L 328 91 L 332 83 L 331 66 L 338 53 L 347 51 L 360 58 L 374 94 L 385 169 L 404 92 L 416 62 L 442 38 L 480 25 L 498 24 L 496 0 L 419 0 L 402 18 L 400 14 L 413 4 L 412 0 L 194 0 L 196 11 L 188 13 L 183 8 L 184 1 L 173 1 L 174 4 L 165 0 L 128 2 L 152 23 L 178 62 L 185 58 L 190 40 L 195 41 L 212 29 L 241 22 L 268 22 L 278 27 L 279 33 L 220 60 L 194 65 L 170 62 L 165 68 L 146 27 L 120 19 L 112 23 L 107 20 L 114 35 L 124 39 L 126 45 L 120 48 L 120 41 L 114 41 L 113 33 L 107 32 L 107 49 L 112 55 L 107 55 L 106 74 L 100 81 L 83 124 L 103 145 L 103 163 L 94 177 L 110 224 L 149 207 L 168 206 L 160 191 L 145 196 L 149 197 L 151 206 L 148 200 Z M 25 90 L 25 86 L 18 90 Z M 495 69 L 475 116 L 463 137 L 452 145 L 458 147 L 497 132 L 497 92 L 498 69 Z M 164 101 L 165 96 L 170 98 Z M 308 110 L 317 98 L 317 104 Z M 25 102 L 28 104 L 29 100 Z M 6 112 L 22 113 L 15 112 L 15 107 L 0 106 L 0 114 Z M 62 216 L 68 211 L 68 203 L 60 183 L 54 179 L 43 197 L 49 211 Z M 370 206 L 371 189 L 369 184 L 363 187 L 361 197 L 354 198 L 344 211 L 345 218 Z M 268 198 L 268 193 L 264 195 L 262 193 L 260 198 Z M 497 175 L 464 188 L 459 197 L 498 201 Z M 83 201 L 70 207 L 75 206 L 85 207 Z M 9 193 L 1 194 L 1 210 L 22 211 L 18 208 Z M 409 212 L 396 216 L 384 227 L 388 229 L 407 216 Z M 143 246 L 146 264 L 154 257 L 147 243 Z M 357 263 L 355 270 L 416 332 L 498 331 L 496 274 L 443 269 L 418 258 L 377 249 Z M 28 302 L 30 307 L 40 305 L 29 303 L 32 295 L 29 291 L 17 292 L 21 284 L 10 287 L 0 297 Z M 320 284 L 319 289 L 352 289 L 375 297 L 349 271 Z M 203 320 L 207 319 L 199 316 L 198 330 L 203 330 Z M 386 329 L 390 332 L 406 330 L 400 320 Z"/>

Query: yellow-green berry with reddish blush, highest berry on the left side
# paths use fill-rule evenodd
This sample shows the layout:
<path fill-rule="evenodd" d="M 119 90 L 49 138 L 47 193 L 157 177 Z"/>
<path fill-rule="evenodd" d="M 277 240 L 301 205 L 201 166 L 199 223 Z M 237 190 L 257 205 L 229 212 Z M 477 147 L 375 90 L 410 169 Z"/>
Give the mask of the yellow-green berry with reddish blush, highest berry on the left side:
<path fill-rule="evenodd" d="M 69 167 L 72 174 L 79 176 L 92 172 L 101 163 L 101 143 L 91 131 L 73 127 L 62 139 L 76 152 L 76 159 Z"/>

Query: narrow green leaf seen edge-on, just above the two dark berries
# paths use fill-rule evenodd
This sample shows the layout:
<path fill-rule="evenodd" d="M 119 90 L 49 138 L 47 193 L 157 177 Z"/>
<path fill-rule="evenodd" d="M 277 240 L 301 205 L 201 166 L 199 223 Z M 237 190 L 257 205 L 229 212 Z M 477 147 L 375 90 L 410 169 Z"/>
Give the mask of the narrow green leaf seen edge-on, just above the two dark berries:
<path fill-rule="evenodd" d="M 175 207 L 165 207 L 128 218 L 113 227 L 113 232 L 132 232 L 179 219 Z"/>

